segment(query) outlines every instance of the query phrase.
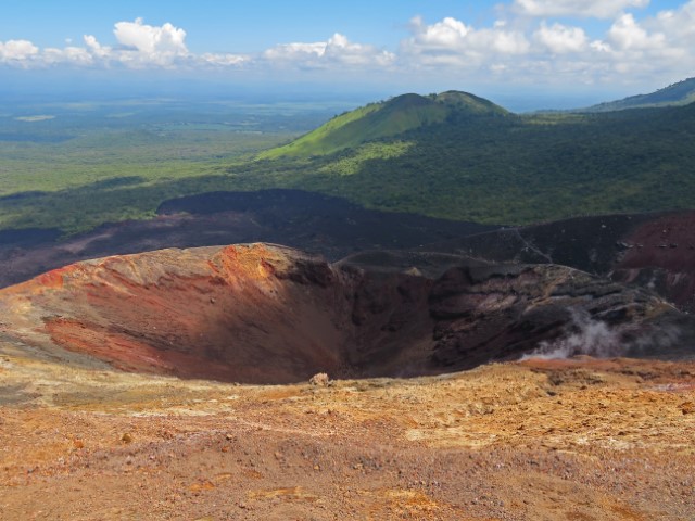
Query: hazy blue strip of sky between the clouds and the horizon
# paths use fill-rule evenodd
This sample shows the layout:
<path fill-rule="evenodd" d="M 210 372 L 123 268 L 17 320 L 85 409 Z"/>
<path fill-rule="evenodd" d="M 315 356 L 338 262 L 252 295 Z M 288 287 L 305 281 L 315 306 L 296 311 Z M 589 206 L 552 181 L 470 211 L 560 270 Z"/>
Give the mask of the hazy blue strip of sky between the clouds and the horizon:
<path fill-rule="evenodd" d="M 685 78 L 683 78 L 685 79 Z M 666 87 L 660 85 L 657 88 Z M 460 90 L 490 99 L 513 112 L 538 110 L 568 110 L 614 101 L 646 91 L 629 88 L 614 90 L 574 89 L 557 91 L 539 85 L 528 91 L 505 89 L 502 86 L 442 85 L 438 89 L 413 82 L 400 86 L 349 85 L 336 88 L 326 82 L 271 82 L 233 84 L 228 80 L 177 78 L 84 78 L 75 79 L 65 75 L 43 77 L 23 75 L 7 78 L 0 85 L 1 102 L 5 103 L 60 103 L 118 100 L 177 99 L 180 101 L 237 101 L 240 103 L 273 104 L 281 102 L 337 102 L 345 106 L 358 106 L 403 93 L 428 94 L 445 90 Z M 656 89 L 654 89 L 656 90 Z"/>

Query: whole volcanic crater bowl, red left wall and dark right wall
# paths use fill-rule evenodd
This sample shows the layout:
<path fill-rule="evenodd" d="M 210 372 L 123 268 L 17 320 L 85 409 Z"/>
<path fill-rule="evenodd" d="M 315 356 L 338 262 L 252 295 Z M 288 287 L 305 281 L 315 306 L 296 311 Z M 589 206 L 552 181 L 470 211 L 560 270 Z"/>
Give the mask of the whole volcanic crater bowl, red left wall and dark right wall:
<path fill-rule="evenodd" d="M 422 276 L 268 244 L 106 257 L 1 290 L 1 332 L 127 371 L 283 383 L 509 359 L 576 334 L 577 314 L 645 344 L 678 315 L 647 292 L 563 266 L 428 258 Z"/>

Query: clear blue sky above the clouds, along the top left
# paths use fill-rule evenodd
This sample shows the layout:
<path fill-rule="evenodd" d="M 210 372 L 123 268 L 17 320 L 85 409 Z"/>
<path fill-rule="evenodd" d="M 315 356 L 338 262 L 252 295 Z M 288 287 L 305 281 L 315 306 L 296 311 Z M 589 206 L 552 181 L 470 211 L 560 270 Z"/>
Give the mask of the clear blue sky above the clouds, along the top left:
<path fill-rule="evenodd" d="M 431 20 L 465 16 L 483 22 L 492 17 L 494 5 L 455 0 L 24 0 L 3 7 L 0 39 L 26 38 L 39 46 L 55 46 L 65 38 L 78 40 L 84 34 L 96 34 L 105 40 L 115 22 L 142 17 L 153 25 L 170 22 L 184 27 L 189 48 L 198 52 L 254 52 L 280 42 L 318 41 L 333 33 L 395 46 L 417 14 Z M 36 13 L 41 13 L 40 17 Z"/>

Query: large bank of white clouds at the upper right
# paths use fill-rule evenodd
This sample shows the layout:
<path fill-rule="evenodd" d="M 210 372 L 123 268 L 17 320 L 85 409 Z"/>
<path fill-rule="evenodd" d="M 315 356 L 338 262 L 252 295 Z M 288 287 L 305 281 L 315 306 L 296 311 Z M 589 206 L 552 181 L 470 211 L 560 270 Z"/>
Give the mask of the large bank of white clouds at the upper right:
<path fill-rule="evenodd" d="M 643 4 L 620 3 L 623 8 Z M 568 13 L 571 7 L 570 2 L 540 0 L 528 0 L 526 5 L 538 13 L 545 7 L 544 14 L 551 8 Z M 584 2 L 573 12 L 597 16 L 619 9 L 619 2 L 602 5 L 607 11 L 594 9 L 596 2 Z M 428 67 L 466 80 L 484 81 L 492 75 L 494 81 L 510 82 L 654 85 L 656 77 L 675 80 L 695 71 L 695 0 L 640 20 L 633 13 L 616 14 L 609 28 L 595 39 L 579 21 L 565 25 L 515 17 L 513 11 L 506 12 L 506 20 L 481 28 L 455 18 L 426 24 L 418 17 L 412 21 L 410 30 L 401 46 L 403 68 Z"/>

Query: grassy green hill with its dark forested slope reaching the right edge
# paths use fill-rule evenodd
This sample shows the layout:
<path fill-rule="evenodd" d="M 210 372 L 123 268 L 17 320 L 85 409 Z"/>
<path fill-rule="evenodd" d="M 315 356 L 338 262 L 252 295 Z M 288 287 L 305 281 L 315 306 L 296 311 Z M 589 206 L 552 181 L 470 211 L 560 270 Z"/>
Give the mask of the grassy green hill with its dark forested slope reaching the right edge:
<path fill-rule="evenodd" d="M 460 92 L 406 94 L 339 116 L 230 169 L 367 207 L 488 224 L 688 208 L 695 104 L 515 115 Z"/>

